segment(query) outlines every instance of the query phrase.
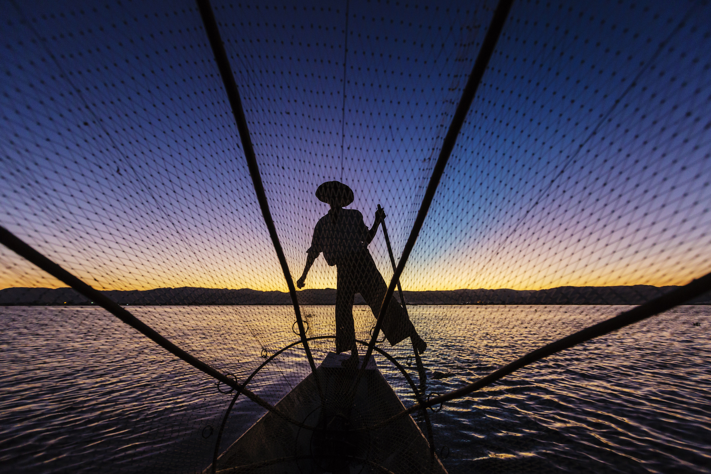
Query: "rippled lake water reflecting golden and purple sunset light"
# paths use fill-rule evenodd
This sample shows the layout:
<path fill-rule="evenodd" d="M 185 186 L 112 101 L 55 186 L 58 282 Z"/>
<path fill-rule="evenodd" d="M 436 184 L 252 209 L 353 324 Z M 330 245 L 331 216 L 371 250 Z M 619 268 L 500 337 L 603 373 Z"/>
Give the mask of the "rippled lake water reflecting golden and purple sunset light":
<path fill-rule="evenodd" d="M 444 393 L 624 306 L 416 306 L 428 382 Z M 282 306 L 129 307 L 238 380 L 296 341 Z M 333 307 L 302 308 L 309 336 Z M 370 311 L 355 308 L 358 338 Z M 711 473 L 708 306 L 682 306 L 537 362 L 432 414 L 450 473 Z M 313 342 L 322 360 L 333 340 Z M 382 348 L 408 366 L 408 348 Z M 401 347 L 402 346 L 402 347 Z M 379 357 L 379 356 L 378 356 Z M 405 406 L 402 375 L 378 365 Z M 309 373 L 287 350 L 250 388 L 276 403 Z M 430 372 L 432 374 L 434 372 Z M 232 394 L 98 308 L 0 308 L 0 462 L 14 473 L 193 473 L 211 461 Z M 263 411 L 238 399 L 221 449 Z M 422 422 L 420 421 L 421 426 Z M 444 456 L 443 456 L 444 457 Z"/>

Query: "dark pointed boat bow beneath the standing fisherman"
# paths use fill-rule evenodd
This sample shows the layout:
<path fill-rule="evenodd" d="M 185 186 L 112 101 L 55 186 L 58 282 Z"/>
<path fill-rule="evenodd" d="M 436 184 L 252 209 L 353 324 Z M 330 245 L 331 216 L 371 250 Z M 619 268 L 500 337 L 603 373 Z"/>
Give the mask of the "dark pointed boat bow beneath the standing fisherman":
<path fill-rule="evenodd" d="M 296 421 L 321 430 L 300 428 L 269 412 L 218 458 L 217 472 L 446 473 L 412 417 L 367 428 L 405 407 L 375 360 L 353 390 L 356 374 L 341 367 L 343 358 L 329 352 L 316 372 L 276 405 Z M 210 472 L 211 466 L 205 474 Z"/>

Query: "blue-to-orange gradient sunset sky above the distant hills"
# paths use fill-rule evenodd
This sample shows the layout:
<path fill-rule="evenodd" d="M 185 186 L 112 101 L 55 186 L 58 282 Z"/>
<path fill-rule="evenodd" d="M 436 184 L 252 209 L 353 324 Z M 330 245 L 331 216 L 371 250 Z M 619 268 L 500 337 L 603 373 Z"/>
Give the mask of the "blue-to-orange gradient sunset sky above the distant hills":
<path fill-rule="evenodd" d="M 383 205 L 402 252 L 494 3 L 351 1 L 344 77 L 345 6 L 214 4 L 294 277 L 323 181 L 351 185 L 369 225 Z M 710 16 L 515 2 L 405 289 L 705 274 Z M 2 225 L 100 288 L 286 289 L 193 4 L 37 2 L 9 18 Z M 370 249 L 388 279 L 382 235 Z M 53 284 L 0 259 L 2 286 Z M 307 284 L 335 287 L 335 268 L 319 259 Z"/>

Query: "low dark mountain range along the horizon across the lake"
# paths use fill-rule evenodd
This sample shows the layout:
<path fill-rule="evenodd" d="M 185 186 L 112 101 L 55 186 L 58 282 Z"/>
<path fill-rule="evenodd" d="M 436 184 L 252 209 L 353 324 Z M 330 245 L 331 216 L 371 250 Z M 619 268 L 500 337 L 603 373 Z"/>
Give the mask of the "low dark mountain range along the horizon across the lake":
<path fill-rule="evenodd" d="M 546 290 L 461 289 L 450 291 L 405 291 L 410 305 L 512 304 L 635 305 L 671 291 L 677 286 L 560 286 Z M 122 305 L 290 305 L 289 293 L 251 289 L 157 288 L 153 290 L 105 291 Z M 397 297 L 397 292 L 396 298 Z M 297 293 L 301 305 L 333 305 L 336 290 L 306 289 Z M 690 303 L 711 304 L 711 294 Z M 0 290 L 0 306 L 90 305 L 91 301 L 70 288 L 6 288 Z M 365 304 L 356 295 L 355 304 Z"/>

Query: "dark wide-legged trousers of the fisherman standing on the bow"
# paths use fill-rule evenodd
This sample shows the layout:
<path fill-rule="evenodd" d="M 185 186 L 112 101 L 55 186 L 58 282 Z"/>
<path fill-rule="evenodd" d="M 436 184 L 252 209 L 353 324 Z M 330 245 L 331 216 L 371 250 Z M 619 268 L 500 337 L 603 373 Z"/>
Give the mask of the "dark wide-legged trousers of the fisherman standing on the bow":
<path fill-rule="evenodd" d="M 353 324 L 353 301 L 355 293 L 360 293 L 365 302 L 378 317 L 387 285 L 378 267 L 373 262 L 367 248 L 343 256 L 336 262 L 338 287 L 336 288 L 336 352 L 351 350 L 355 343 L 355 325 Z M 405 309 L 390 298 L 385 311 L 385 320 L 381 326 L 390 345 L 400 343 L 415 334 L 415 326 L 407 317 Z"/>

